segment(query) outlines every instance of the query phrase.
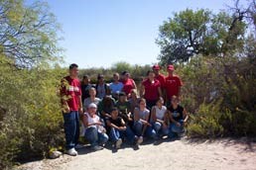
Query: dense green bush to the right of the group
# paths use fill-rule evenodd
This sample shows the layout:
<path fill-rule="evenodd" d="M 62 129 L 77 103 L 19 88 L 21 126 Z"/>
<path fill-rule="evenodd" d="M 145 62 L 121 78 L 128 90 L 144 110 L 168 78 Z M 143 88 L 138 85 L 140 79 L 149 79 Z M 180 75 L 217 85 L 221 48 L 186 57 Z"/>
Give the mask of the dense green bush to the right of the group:
<path fill-rule="evenodd" d="M 190 135 L 256 135 L 255 65 L 246 57 L 197 56 L 179 67 Z"/>

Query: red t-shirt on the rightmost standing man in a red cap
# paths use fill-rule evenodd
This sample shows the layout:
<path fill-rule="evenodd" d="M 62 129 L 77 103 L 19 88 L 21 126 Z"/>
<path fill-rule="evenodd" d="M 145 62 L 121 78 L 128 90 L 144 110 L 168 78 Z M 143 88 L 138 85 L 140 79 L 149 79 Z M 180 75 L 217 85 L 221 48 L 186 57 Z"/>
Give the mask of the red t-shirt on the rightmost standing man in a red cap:
<path fill-rule="evenodd" d="M 173 96 L 178 96 L 179 88 L 183 86 L 183 82 L 178 75 L 166 77 L 167 97 L 170 100 Z"/>

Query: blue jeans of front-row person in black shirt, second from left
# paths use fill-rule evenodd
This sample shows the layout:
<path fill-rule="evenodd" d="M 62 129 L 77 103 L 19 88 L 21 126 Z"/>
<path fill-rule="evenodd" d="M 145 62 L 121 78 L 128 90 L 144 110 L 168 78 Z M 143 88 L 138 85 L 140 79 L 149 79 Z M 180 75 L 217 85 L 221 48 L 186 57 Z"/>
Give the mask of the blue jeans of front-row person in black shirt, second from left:
<path fill-rule="evenodd" d="M 110 129 L 110 139 L 113 142 L 116 142 L 119 138 L 126 137 L 129 142 L 134 142 L 135 140 L 135 134 L 133 133 L 132 129 L 130 127 L 126 127 L 125 130 L 119 130 L 114 127 L 111 127 Z"/>

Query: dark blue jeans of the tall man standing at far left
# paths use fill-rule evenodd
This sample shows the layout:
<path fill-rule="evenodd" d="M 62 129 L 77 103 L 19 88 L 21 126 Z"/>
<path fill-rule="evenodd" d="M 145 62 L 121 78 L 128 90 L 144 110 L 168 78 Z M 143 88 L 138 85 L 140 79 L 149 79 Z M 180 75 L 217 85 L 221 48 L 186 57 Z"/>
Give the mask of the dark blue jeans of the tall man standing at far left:
<path fill-rule="evenodd" d="M 65 148 L 71 149 L 78 143 L 79 138 L 79 114 L 77 111 L 64 113 Z"/>

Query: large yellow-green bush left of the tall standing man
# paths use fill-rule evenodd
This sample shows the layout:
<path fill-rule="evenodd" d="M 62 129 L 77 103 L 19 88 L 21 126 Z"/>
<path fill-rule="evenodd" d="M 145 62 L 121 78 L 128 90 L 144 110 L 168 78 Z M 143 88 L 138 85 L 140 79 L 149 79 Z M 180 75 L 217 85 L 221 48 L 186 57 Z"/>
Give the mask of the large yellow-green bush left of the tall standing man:
<path fill-rule="evenodd" d="M 57 95 L 62 68 L 40 65 L 16 69 L 0 57 L 0 169 L 15 161 L 45 157 L 64 143 L 63 117 Z"/>

